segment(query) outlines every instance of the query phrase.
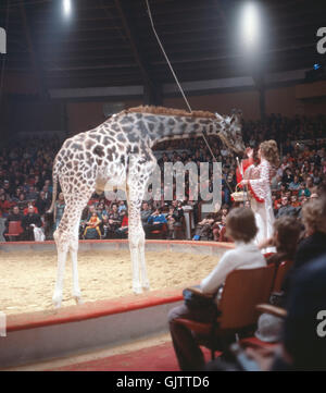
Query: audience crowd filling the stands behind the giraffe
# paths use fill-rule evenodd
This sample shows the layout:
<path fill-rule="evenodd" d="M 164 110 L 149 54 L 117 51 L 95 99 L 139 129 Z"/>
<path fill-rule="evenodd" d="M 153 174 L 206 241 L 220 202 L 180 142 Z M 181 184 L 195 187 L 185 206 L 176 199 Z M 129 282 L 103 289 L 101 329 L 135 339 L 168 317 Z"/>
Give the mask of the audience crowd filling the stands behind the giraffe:
<path fill-rule="evenodd" d="M 264 122 L 243 122 L 243 139 L 247 145 L 254 146 L 264 138 L 275 138 L 280 146 L 283 160 L 272 184 L 274 212 L 277 218 L 281 216 L 300 217 L 303 205 L 309 199 L 316 197 L 318 194 L 317 188 L 325 183 L 326 139 L 323 139 L 326 136 L 325 119 L 323 115 L 314 118 L 297 115 L 288 119 L 279 114 L 272 114 Z M 294 143 L 293 140 L 298 140 L 298 138 L 309 140 Z M 229 209 L 238 206 L 231 200 L 231 192 L 237 185 L 236 157 L 222 145 L 216 136 L 210 136 L 209 144 L 217 161 L 222 162 L 222 205 L 229 211 Z M 0 217 L 8 219 L 13 213 L 15 206 L 18 207 L 22 216 L 26 216 L 27 208 L 32 204 L 35 208 L 34 213 L 40 216 L 41 230 L 45 232 L 46 238 L 49 240 L 52 238 L 53 231 L 58 226 L 65 207 L 63 195 L 59 194 L 54 216 L 49 217 L 47 214 L 52 199 L 51 169 L 60 146 L 61 142 L 58 138 L 51 140 L 33 138 L 21 143 L 16 142 L 14 146 L 2 149 L 0 155 Z M 193 162 L 198 167 L 201 162 L 212 164 L 212 156 L 202 138 L 163 142 L 155 149 L 165 150 L 158 160 L 162 170 L 162 179 L 164 177 L 165 162 L 175 163 L 180 161 L 184 164 Z M 164 200 L 163 183 L 159 197 L 152 195 L 151 189 L 149 189 L 148 202 L 151 212 L 160 208 L 166 219 L 166 223 L 161 223 L 164 229 L 161 231 L 162 235 L 171 240 L 183 238 L 185 218 L 181 217 L 181 212 L 189 209 L 193 214 L 195 229 L 191 236 L 195 240 L 229 241 L 225 236 L 226 214 L 221 213 L 225 209 L 221 209 L 217 213 L 211 213 L 209 217 L 201 214 L 201 195 L 199 194 L 198 199 L 191 195 L 187 173 L 185 185 L 183 200 L 177 198 L 175 184 L 173 185 L 173 200 Z M 206 188 L 212 192 L 212 187 L 211 165 Z M 103 202 L 103 207 L 100 206 L 100 201 Z M 120 201 L 117 200 L 117 202 Z M 101 221 L 97 224 L 100 231 L 89 228 L 85 232 L 85 220 L 87 218 L 84 218 L 82 226 L 85 233 L 80 229 L 80 238 L 110 238 L 110 236 L 125 236 L 127 234 L 126 229 L 117 231 L 123 218 L 117 217 L 116 212 L 112 211 L 111 204 L 112 201 L 103 200 L 96 194 L 92 196 L 89 205 L 96 206 L 97 214 Z M 178 205 L 178 209 L 176 209 L 176 205 Z M 246 201 L 246 206 L 249 207 L 249 201 Z M 109 214 L 111 214 L 111 218 L 109 218 Z M 143 220 L 147 213 L 142 214 L 145 214 L 142 216 L 142 223 L 146 226 L 149 224 Z M 127 226 L 126 220 L 123 226 Z M 8 224 L 9 222 L 7 222 L 7 229 Z M 155 232 L 160 234 L 159 226 L 155 228 Z M 24 235 L 21 236 L 22 240 L 32 238 L 30 233 L 24 232 Z M 149 232 L 147 233 L 149 234 Z"/>

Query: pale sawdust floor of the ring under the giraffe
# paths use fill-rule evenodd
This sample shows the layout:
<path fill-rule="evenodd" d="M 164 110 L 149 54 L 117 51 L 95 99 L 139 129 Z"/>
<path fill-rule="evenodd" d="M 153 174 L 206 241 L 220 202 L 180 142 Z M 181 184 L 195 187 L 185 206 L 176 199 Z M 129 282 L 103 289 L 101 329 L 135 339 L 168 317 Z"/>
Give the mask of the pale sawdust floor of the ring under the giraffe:
<path fill-rule="evenodd" d="M 185 287 L 202 280 L 218 258 L 185 253 L 147 251 L 151 291 Z M 128 250 L 78 253 L 79 285 L 84 302 L 133 294 Z M 0 311 L 8 315 L 53 309 L 55 251 L 0 251 Z M 72 306 L 72 263 L 66 262 L 62 306 Z"/>

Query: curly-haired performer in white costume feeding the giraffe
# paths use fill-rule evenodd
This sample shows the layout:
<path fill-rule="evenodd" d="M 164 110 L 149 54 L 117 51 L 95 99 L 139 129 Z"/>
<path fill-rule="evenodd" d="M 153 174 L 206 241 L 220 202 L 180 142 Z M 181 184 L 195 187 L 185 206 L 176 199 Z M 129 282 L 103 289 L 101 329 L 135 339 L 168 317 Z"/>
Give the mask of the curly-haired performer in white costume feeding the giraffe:
<path fill-rule="evenodd" d="M 252 150 L 249 151 L 249 156 Z M 254 212 L 259 228 L 255 243 L 260 244 L 273 235 L 274 211 L 271 192 L 271 182 L 276 174 L 279 162 L 277 144 L 275 140 L 266 140 L 258 150 L 259 165 L 251 164 L 244 172 L 242 186 L 248 186 L 251 195 L 251 208 Z M 264 251 L 272 251 L 265 249 Z"/>

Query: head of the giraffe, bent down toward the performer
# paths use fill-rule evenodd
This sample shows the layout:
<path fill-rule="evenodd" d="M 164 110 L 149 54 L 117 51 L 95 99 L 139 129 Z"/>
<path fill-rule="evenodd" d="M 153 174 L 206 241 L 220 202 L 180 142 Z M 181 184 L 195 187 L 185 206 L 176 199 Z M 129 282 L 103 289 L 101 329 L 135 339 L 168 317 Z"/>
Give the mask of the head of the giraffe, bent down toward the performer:
<path fill-rule="evenodd" d="M 222 130 L 218 132 L 218 136 L 222 142 L 236 153 L 243 153 L 246 146 L 242 140 L 242 125 L 241 125 L 241 111 L 233 110 L 233 114 L 221 115 L 215 113 L 218 122 L 222 124 Z"/>

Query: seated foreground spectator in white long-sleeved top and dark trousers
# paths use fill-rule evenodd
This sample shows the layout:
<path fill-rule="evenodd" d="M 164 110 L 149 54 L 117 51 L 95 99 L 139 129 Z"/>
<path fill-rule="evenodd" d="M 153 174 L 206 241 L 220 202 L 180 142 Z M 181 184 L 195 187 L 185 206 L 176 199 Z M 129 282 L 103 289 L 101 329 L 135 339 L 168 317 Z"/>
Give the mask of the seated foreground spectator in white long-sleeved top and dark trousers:
<path fill-rule="evenodd" d="M 266 266 L 266 260 L 253 240 L 258 228 L 251 209 L 233 209 L 226 218 L 227 236 L 236 243 L 236 248 L 226 251 L 213 271 L 202 280 L 200 288 L 206 294 L 217 294 L 226 277 L 236 269 L 254 269 Z M 211 322 L 212 311 L 206 308 L 189 308 L 181 305 L 168 314 L 170 332 L 174 349 L 183 371 L 201 370 L 204 366 L 203 354 L 192 332 L 177 323 L 178 318 L 199 322 Z"/>

